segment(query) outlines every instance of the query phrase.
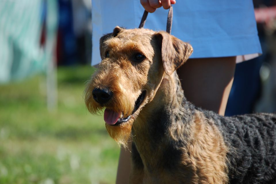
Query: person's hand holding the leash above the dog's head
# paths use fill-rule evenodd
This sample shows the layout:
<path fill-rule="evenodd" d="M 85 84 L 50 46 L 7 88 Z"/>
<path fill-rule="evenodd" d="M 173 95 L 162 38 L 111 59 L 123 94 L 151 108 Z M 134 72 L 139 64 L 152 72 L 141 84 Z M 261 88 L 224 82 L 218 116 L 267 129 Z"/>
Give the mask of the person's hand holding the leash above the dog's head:
<path fill-rule="evenodd" d="M 163 6 L 164 9 L 169 9 L 170 5 L 175 4 L 175 0 L 140 0 L 141 5 L 146 11 L 153 13 L 157 8 Z"/>

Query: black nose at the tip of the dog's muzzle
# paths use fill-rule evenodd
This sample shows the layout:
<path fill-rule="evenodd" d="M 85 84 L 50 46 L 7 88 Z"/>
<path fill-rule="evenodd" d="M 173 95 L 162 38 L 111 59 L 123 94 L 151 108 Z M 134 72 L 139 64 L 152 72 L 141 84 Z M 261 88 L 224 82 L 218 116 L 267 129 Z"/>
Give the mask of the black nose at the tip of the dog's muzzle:
<path fill-rule="evenodd" d="M 92 95 L 96 102 L 104 104 L 110 100 L 112 92 L 108 88 L 94 88 Z"/>

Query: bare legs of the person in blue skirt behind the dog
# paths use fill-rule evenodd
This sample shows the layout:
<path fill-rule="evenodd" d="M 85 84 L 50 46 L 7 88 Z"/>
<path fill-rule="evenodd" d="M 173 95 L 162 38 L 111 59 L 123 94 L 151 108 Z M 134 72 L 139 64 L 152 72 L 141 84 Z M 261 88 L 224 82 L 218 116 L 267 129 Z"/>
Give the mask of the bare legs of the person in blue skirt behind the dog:
<path fill-rule="evenodd" d="M 187 100 L 196 106 L 224 115 L 233 84 L 235 60 L 236 57 L 189 59 L 177 71 Z M 129 181 L 130 157 L 128 150 L 121 149 L 117 184 Z"/>

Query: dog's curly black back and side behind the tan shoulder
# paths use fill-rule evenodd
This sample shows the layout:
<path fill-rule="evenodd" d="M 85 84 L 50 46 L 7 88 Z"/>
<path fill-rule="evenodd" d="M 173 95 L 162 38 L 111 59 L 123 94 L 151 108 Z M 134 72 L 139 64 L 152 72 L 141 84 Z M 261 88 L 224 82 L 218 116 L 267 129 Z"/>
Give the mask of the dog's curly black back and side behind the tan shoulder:
<path fill-rule="evenodd" d="M 230 183 L 276 183 L 276 114 L 204 114 L 215 119 L 229 148 Z"/>

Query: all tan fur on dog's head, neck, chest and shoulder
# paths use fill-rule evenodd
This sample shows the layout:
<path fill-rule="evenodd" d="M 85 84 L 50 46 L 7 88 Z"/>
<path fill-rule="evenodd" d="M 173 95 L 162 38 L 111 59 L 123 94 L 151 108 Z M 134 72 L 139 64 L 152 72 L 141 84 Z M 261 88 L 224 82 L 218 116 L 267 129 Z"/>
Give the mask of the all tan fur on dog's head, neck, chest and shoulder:
<path fill-rule="evenodd" d="M 149 29 L 122 29 L 116 27 L 100 39 L 102 61 L 85 90 L 85 103 L 91 113 L 104 108 L 123 112 L 127 117 L 133 112 L 135 101 L 143 90 L 146 97 L 129 121 L 118 126 L 106 124 L 110 136 L 126 147 L 132 136 L 141 156 L 143 169 L 133 166 L 131 183 L 227 183 L 227 147 L 223 137 L 201 112 L 196 112 L 187 126 L 176 123 L 170 126 L 158 147 L 152 147 L 151 124 L 148 119 L 160 106 L 170 104 L 172 113 L 178 113 L 183 99 L 183 90 L 175 70 L 191 55 L 191 45 L 166 32 Z M 109 58 L 106 58 L 106 53 Z M 133 56 L 141 53 L 142 62 Z M 94 88 L 109 88 L 112 99 L 104 106 L 95 102 Z M 178 95 L 180 94 L 180 96 Z M 183 138 L 181 162 L 173 171 L 160 167 L 164 147 L 171 141 Z"/>

